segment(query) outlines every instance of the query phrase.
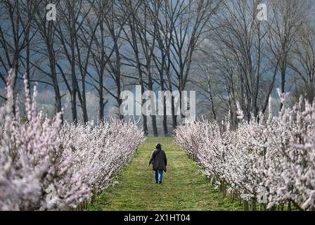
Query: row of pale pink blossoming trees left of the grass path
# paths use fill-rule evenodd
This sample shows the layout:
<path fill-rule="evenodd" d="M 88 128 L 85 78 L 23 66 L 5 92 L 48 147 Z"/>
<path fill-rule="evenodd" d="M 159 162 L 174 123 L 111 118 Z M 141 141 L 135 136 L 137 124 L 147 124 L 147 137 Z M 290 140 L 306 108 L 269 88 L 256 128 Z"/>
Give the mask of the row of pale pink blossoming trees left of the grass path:
<path fill-rule="evenodd" d="M 8 72 L 6 104 L 0 108 L 0 210 L 65 210 L 76 207 L 110 184 L 144 141 L 136 124 L 121 120 L 96 127 L 62 124 L 61 113 L 49 120 L 36 110 L 25 79 L 27 121 L 14 107 Z"/>

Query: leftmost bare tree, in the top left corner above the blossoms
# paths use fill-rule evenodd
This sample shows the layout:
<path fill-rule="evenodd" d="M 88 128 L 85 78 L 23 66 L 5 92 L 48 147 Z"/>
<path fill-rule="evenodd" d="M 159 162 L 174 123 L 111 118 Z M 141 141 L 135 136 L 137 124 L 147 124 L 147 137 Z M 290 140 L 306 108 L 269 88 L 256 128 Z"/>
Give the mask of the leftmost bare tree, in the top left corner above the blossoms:
<path fill-rule="evenodd" d="M 32 30 L 34 15 L 39 11 L 40 1 L 1 1 L 0 63 L 4 71 L 0 80 L 6 84 L 6 72 L 15 68 L 19 72 L 21 53 L 25 50 L 25 73 L 30 86 L 30 42 L 37 33 Z M 31 32 L 32 30 L 32 32 Z M 15 77 L 14 86 L 18 76 Z M 4 98 L 4 96 L 1 96 Z M 5 99 L 5 98 L 4 98 Z"/>

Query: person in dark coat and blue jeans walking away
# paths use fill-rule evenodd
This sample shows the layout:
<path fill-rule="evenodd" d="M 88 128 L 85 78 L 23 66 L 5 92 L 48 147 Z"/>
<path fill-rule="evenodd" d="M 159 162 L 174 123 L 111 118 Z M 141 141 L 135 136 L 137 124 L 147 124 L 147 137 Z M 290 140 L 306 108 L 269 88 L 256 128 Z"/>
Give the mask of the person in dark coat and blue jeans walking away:
<path fill-rule="evenodd" d="M 157 143 L 155 150 L 153 150 L 148 166 L 152 163 L 154 170 L 154 178 L 156 184 L 161 184 L 163 179 L 163 172 L 166 172 L 167 158 L 162 145 Z"/>

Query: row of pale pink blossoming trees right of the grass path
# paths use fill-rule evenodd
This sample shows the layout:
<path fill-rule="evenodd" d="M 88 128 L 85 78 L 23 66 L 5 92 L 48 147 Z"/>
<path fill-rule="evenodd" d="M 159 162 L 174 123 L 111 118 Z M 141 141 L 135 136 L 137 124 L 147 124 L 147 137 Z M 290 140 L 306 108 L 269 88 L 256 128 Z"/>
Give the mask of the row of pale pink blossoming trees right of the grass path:
<path fill-rule="evenodd" d="M 281 103 L 285 95 L 281 94 Z M 205 174 L 229 184 L 243 200 L 263 193 L 267 207 L 294 205 L 315 210 L 315 107 L 302 101 L 283 108 L 278 117 L 259 115 L 259 122 L 243 120 L 236 130 L 229 120 L 196 121 L 175 131 L 176 143 Z"/>

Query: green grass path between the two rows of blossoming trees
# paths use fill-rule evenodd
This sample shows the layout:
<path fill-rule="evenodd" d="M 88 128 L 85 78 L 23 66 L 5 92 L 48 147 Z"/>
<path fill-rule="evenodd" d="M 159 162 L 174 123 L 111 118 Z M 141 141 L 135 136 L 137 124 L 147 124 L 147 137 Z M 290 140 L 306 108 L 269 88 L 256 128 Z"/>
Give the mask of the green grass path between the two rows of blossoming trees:
<path fill-rule="evenodd" d="M 155 184 L 148 160 L 155 143 L 167 154 L 167 173 Z M 201 169 L 174 143 L 171 137 L 148 138 L 139 146 L 129 165 L 89 210 L 241 210 L 210 186 Z"/>

